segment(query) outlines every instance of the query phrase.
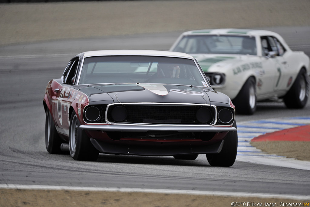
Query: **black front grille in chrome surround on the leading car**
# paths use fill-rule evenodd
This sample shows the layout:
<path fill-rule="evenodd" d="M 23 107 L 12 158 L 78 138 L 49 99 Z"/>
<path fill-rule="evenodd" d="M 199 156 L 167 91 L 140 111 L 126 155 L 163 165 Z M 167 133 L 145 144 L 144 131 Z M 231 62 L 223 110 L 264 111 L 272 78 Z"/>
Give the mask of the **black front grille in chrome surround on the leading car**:
<path fill-rule="evenodd" d="M 123 106 L 127 110 L 126 119 L 119 123 L 139 124 L 212 124 L 215 119 L 215 108 L 211 106 L 193 105 L 145 105 L 124 104 L 111 105 L 108 107 L 108 122 L 117 123 L 113 120 L 111 112 L 113 108 Z M 197 110 L 208 108 L 212 118 L 207 123 L 200 123 L 196 118 Z"/>

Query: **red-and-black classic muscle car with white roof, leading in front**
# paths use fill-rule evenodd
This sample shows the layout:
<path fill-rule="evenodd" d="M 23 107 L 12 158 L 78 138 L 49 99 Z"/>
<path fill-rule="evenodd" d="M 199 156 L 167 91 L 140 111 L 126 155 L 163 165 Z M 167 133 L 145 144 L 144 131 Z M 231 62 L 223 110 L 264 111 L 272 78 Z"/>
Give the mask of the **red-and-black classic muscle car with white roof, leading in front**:
<path fill-rule="evenodd" d="M 235 106 L 185 53 L 82 52 L 47 84 L 43 105 L 47 151 L 69 143 L 74 160 L 206 154 L 210 165 L 231 166 L 236 159 Z"/>

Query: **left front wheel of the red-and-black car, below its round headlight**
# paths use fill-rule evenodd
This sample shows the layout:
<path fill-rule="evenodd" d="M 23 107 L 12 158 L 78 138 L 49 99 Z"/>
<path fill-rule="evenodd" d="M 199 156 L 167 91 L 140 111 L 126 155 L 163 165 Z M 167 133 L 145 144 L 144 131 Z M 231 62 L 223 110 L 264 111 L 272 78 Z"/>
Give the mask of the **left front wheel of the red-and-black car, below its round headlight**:
<path fill-rule="evenodd" d="M 75 111 L 72 112 L 69 126 L 69 151 L 74 160 L 95 161 L 99 151 L 91 144 L 86 132 L 80 129 L 80 121 Z"/>

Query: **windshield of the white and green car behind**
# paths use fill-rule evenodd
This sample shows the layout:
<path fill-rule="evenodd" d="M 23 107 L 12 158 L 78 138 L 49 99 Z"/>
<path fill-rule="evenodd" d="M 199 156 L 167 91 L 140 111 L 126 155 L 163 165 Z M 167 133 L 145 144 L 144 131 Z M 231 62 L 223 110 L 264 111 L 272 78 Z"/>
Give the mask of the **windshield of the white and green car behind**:
<path fill-rule="evenodd" d="M 172 51 L 189 54 L 257 54 L 255 37 L 237 35 L 184 36 Z"/>

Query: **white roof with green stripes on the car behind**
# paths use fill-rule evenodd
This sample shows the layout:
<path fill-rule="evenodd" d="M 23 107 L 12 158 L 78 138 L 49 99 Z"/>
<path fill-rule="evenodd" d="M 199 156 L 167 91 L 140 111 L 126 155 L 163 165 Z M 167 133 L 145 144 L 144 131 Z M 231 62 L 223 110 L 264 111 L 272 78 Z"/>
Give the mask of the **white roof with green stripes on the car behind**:
<path fill-rule="evenodd" d="M 268 30 L 261 30 L 261 29 L 200 29 L 200 30 L 192 30 L 184 32 L 183 35 L 199 35 L 199 34 L 235 34 L 235 35 L 252 35 L 252 36 L 265 36 L 265 35 L 273 35 L 278 36 L 277 33 L 268 31 Z"/>

